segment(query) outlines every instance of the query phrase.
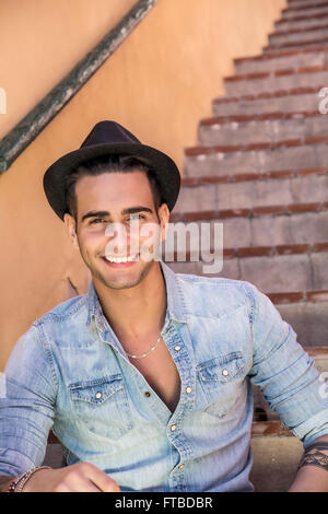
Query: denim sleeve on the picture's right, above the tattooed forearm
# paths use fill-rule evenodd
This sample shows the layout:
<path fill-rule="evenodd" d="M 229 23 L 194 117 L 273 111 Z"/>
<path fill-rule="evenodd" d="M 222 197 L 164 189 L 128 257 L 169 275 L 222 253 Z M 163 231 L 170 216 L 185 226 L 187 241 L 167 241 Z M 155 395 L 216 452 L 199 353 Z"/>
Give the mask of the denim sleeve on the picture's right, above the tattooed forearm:
<path fill-rule="evenodd" d="M 270 409 L 306 447 L 328 434 L 328 394 L 323 376 L 270 299 L 253 284 L 251 292 L 250 382 L 260 387 Z"/>

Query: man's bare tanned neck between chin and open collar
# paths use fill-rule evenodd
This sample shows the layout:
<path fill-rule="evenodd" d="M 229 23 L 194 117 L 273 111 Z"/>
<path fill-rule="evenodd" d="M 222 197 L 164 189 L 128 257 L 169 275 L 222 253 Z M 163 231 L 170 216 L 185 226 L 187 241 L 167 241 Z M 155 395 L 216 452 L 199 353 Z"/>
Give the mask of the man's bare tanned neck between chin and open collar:
<path fill-rule="evenodd" d="M 94 280 L 103 313 L 119 340 L 161 330 L 166 313 L 165 280 L 159 262 L 133 288 L 115 290 Z"/>

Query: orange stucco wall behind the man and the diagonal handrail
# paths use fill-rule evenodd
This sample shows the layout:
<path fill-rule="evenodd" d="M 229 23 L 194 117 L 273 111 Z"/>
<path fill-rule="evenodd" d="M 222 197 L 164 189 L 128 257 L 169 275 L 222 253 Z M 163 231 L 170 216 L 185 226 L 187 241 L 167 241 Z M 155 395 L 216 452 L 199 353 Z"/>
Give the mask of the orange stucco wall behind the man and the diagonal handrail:
<path fill-rule="evenodd" d="M 97 0 L 95 9 L 94 0 L 3 0 L 0 86 L 8 112 L 0 115 L 0 137 L 133 3 Z M 197 142 L 199 120 L 211 116 L 212 100 L 224 94 L 233 58 L 259 54 L 284 7 L 285 0 L 160 0 L 0 176 L 0 370 L 31 323 L 75 294 L 68 278 L 85 291 L 84 265 L 43 192 L 46 167 L 78 148 L 96 121 L 115 119 L 183 170 L 184 148 Z"/>

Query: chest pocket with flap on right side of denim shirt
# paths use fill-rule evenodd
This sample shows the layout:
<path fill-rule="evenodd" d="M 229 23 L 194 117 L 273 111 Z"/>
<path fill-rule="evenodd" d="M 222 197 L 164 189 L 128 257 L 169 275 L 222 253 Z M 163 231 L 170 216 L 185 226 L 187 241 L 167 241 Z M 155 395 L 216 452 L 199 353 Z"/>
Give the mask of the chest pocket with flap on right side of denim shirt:
<path fill-rule="evenodd" d="M 225 417 L 245 393 L 245 359 L 242 352 L 211 359 L 197 366 L 202 410 Z"/>

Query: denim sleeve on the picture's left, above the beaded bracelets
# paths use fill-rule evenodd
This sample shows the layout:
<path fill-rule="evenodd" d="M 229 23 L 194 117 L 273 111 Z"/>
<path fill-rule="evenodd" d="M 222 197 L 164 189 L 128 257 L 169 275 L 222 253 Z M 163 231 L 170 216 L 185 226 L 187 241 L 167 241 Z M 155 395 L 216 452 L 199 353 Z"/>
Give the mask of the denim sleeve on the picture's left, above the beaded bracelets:
<path fill-rule="evenodd" d="M 16 342 L 0 394 L 0 475 L 17 476 L 45 457 L 54 420 L 56 374 L 50 351 L 32 326 Z"/>

